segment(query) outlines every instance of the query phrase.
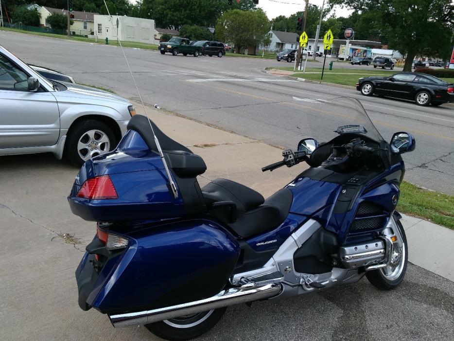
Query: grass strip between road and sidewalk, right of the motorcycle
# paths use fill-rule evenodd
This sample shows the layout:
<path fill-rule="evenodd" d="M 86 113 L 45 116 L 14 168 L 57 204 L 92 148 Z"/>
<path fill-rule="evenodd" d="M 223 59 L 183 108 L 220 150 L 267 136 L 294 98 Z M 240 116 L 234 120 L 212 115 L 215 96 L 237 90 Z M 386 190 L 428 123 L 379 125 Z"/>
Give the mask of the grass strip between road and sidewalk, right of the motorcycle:
<path fill-rule="evenodd" d="M 454 230 L 454 196 L 403 181 L 397 210 Z"/>

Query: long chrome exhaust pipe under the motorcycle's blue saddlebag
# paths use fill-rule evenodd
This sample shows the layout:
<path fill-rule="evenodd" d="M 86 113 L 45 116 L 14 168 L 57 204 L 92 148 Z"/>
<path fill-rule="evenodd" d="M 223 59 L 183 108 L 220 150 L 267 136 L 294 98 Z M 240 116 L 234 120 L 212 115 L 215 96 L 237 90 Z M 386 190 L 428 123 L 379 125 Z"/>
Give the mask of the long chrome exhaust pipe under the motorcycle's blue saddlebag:
<path fill-rule="evenodd" d="M 223 308 L 229 305 L 270 298 L 279 295 L 281 290 L 282 287 L 280 284 L 269 283 L 258 286 L 255 283 L 248 283 L 241 287 L 222 290 L 217 295 L 203 300 L 134 313 L 109 315 L 109 319 L 114 327 L 154 323 L 180 316 L 197 314 L 211 309 Z"/>

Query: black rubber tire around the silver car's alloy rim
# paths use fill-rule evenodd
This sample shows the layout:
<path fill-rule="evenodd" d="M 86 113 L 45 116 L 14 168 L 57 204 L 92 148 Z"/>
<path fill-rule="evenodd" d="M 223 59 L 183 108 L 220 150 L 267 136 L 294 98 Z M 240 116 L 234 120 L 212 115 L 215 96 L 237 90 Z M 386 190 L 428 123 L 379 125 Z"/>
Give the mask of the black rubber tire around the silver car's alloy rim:
<path fill-rule="evenodd" d="M 70 128 L 70 131 L 68 132 L 68 137 L 66 139 L 65 150 L 64 150 L 64 155 L 68 159 L 68 161 L 77 167 L 82 166 L 84 164 L 84 162 L 88 160 L 88 159 L 84 160 L 80 157 L 79 151 L 77 150 L 77 145 L 79 143 L 79 140 L 81 140 L 84 137 L 84 135 L 91 130 L 99 130 L 100 132 L 104 133 L 105 136 L 107 137 L 107 139 L 109 140 L 108 146 L 105 144 L 100 144 L 100 149 L 99 149 L 100 152 L 98 155 L 111 151 L 111 150 L 115 149 L 115 147 L 117 146 L 118 141 L 115 137 L 114 132 L 105 123 L 96 121 L 96 120 L 85 120 L 85 121 L 81 121 L 81 122 L 77 123 L 76 125 L 72 126 Z M 98 135 L 96 135 L 96 136 L 98 136 Z M 88 142 L 89 141 L 87 141 L 87 144 L 88 144 Z M 94 142 L 96 143 L 96 140 L 94 140 Z M 98 147 L 95 147 L 95 148 L 98 148 Z M 105 150 L 102 150 L 102 149 L 105 149 Z M 87 149 L 87 153 L 89 153 L 90 151 Z M 96 152 L 94 152 L 94 153 L 96 154 Z M 83 154 L 83 152 L 81 152 L 81 154 Z M 85 155 L 87 155 L 87 154 L 85 154 Z M 97 156 L 97 155 L 95 155 L 95 156 Z"/>

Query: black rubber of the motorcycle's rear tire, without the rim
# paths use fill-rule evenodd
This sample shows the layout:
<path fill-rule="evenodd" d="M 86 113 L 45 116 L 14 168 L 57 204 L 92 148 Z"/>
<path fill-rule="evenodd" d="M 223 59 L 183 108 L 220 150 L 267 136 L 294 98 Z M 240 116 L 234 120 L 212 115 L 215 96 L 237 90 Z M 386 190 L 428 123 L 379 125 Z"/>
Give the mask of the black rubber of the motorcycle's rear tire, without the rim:
<path fill-rule="evenodd" d="M 219 320 L 222 318 L 224 313 L 226 312 L 227 308 L 219 308 L 214 309 L 211 315 L 206 318 L 203 322 L 194 325 L 192 327 L 176 327 L 172 326 L 169 323 L 179 323 L 178 319 L 166 320 L 166 322 L 155 322 L 145 324 L 145 327 L 155 334 L 157 337 L 164 339 L 164 340 L 171 340 L 171 341 L 182 341 L 182 340 L 191 340 L 194 339 L 202 334 L 208 332 Z M 211 310 L 210 310 L 211 311 Z M 206 314 L 210 312 L 205 312 L 201 314 Z M 198 314 L 197 314 L 198 315 Z M 206 315 L 201 315 L 201 318 L 204 318 Z M 189 320 L 190 321 L 190 320 Z M 182 321 L 184 322 L 184 321 Z M 184 325 L 184 324 L 181 324 Z"/>

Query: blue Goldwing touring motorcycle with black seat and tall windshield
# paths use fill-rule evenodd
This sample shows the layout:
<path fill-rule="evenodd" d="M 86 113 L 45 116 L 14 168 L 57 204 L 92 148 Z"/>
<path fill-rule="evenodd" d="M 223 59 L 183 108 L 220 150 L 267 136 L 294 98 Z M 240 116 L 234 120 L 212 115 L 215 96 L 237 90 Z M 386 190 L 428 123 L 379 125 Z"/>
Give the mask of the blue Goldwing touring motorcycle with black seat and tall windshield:
<path fill-rule="evenodd" d="M 384 141 L 354 99 L 314 121 L 329 142 L 301 140 L 262 171 L 306 162 L 264 199 L 228 179 L 200 188 L 207 169 L 145 116 L 133 116 L 110 153 L 86 162 L 70 196 L 97 222 L 76 270 L 79 305 L 115 327 L 143 324 L 167 340 L 212 328 L 227 306 L 354 283 L 383 290 L 404 277 L 408 250 L 395 210 L 415 139 Z M 333 131 L 333 129 L 335 129 Z"/>

